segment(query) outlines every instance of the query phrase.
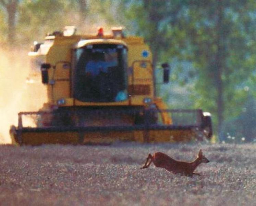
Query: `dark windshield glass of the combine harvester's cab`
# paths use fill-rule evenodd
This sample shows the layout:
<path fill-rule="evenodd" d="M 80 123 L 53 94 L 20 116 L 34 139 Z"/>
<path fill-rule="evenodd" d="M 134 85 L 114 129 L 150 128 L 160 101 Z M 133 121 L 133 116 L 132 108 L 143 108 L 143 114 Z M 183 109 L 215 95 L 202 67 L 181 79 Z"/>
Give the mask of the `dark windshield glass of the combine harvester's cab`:
<path fill-rule="evenodd" d="M 123 45 L 94 44 L 75 51 L 74 97 L 86 102 L 127 99 L 127 50 Z"/>

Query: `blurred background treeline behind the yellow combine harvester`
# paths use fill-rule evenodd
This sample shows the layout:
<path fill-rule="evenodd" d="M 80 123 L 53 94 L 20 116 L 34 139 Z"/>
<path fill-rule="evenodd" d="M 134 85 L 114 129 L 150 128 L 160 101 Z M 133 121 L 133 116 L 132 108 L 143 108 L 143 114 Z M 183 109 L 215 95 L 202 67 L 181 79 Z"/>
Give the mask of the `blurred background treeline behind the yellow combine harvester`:
<path fill-rule="evenodd" d="M 28 48 L 66 25 L 143 36 L 155 66 L 171 65 L 171 82 L 158 86 L 170 108 L 211 112 L 220 141 L 255 140 L 256 1 L 0 0 L 2 48 Z"/>

